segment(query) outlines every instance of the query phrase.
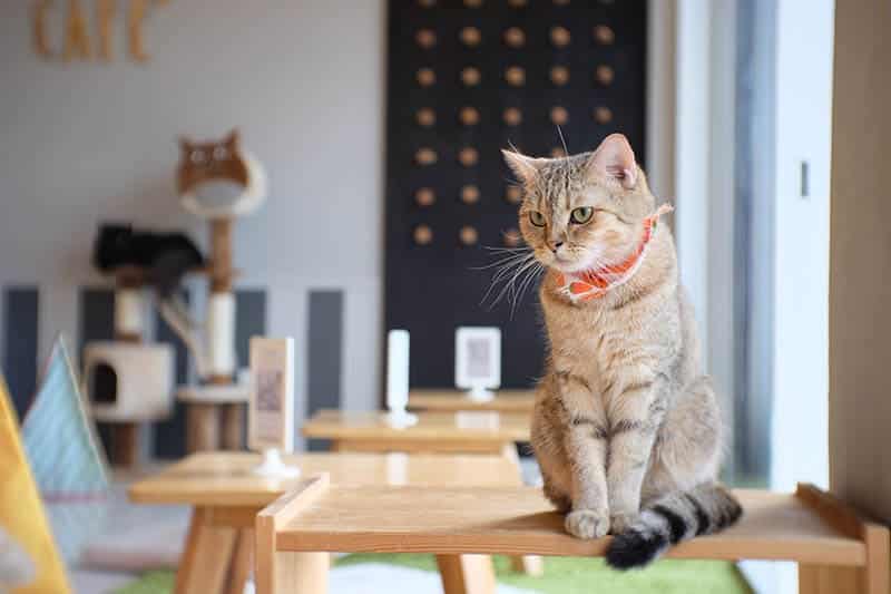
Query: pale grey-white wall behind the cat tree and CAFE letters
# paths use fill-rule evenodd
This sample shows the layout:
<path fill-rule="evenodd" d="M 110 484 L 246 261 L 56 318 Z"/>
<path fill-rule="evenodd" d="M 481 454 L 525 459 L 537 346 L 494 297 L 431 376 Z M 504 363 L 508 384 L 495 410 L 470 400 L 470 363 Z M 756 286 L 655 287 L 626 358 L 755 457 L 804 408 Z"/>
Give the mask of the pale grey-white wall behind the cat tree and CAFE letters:
<path fill-rule="evenodd" d="M 66 4 L 52 4 L 56 49 Z M 236 225 L 238 284 L 270 289 L 268 330 L 297 338 L 298 363 L 307 290 L 344 289 L 345 403 L 376 405 L 384 2 L 153 3 L 144 66 L 126 59 L 119 4 L 115 61 L 69 65 L 32 51 L 31 2 L 0 4 L 0 283 L 40 285 L 41 350 L 76 335 L 77 288 L 100 282 L 97 222 L 203 240 L 174 196 L 175 138 L 238 126 L 270 177 L 266 205 Z M 92 1 L 81 6 L 91 17 Z"/>

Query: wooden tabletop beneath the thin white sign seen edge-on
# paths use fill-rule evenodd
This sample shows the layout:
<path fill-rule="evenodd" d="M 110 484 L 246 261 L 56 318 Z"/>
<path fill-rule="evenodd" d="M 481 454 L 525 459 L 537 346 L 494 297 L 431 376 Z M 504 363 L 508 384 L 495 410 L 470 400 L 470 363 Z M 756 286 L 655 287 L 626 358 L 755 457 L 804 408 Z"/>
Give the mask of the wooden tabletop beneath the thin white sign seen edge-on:
<path fill-rule="evenodd" d="M 320 410 L 303 426 L 305 437 L 363 441 L 487 441 L 529 440 L 528 415 L 497 412 L 418 412 L 418 423 L 393 427 L 384 412 Z"/>

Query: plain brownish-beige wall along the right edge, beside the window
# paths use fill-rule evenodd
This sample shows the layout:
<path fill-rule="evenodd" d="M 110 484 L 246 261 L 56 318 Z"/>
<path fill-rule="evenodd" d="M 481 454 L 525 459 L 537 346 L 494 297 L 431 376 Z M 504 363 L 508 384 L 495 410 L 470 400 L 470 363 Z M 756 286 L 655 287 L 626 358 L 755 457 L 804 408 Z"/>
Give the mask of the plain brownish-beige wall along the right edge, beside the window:
<path fill-rule="evenodd" d="M 838 0 L 830 484 L 891 522 L 891 2 Z"/>

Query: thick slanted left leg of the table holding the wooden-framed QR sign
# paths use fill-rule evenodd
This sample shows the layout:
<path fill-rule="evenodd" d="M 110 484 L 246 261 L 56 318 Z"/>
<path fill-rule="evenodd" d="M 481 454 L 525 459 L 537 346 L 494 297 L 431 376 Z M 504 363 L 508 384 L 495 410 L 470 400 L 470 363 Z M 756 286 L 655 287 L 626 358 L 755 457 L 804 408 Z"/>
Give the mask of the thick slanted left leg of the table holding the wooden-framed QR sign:
<path fill-rule="evenodd" d="M 223 594 L 229 576 L 237 529 L 214 526 L 210 510 L 197 507 L 176 572 L 176 594 Z"/>

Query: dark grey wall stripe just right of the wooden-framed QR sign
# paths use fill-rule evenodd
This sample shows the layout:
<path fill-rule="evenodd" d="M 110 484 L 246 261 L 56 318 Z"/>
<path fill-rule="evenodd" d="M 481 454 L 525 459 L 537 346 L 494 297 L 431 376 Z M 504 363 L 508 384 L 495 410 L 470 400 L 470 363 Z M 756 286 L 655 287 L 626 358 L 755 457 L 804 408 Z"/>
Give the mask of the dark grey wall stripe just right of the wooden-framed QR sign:
<path fill-rule="evenodd" d="M 310 291 L 306 321 L 306 417 L 322 408 L 341 407 L 343 353 L 343 291 Z M 312 451 L 327 449 L 327 442 L 311 439 Z"/>

